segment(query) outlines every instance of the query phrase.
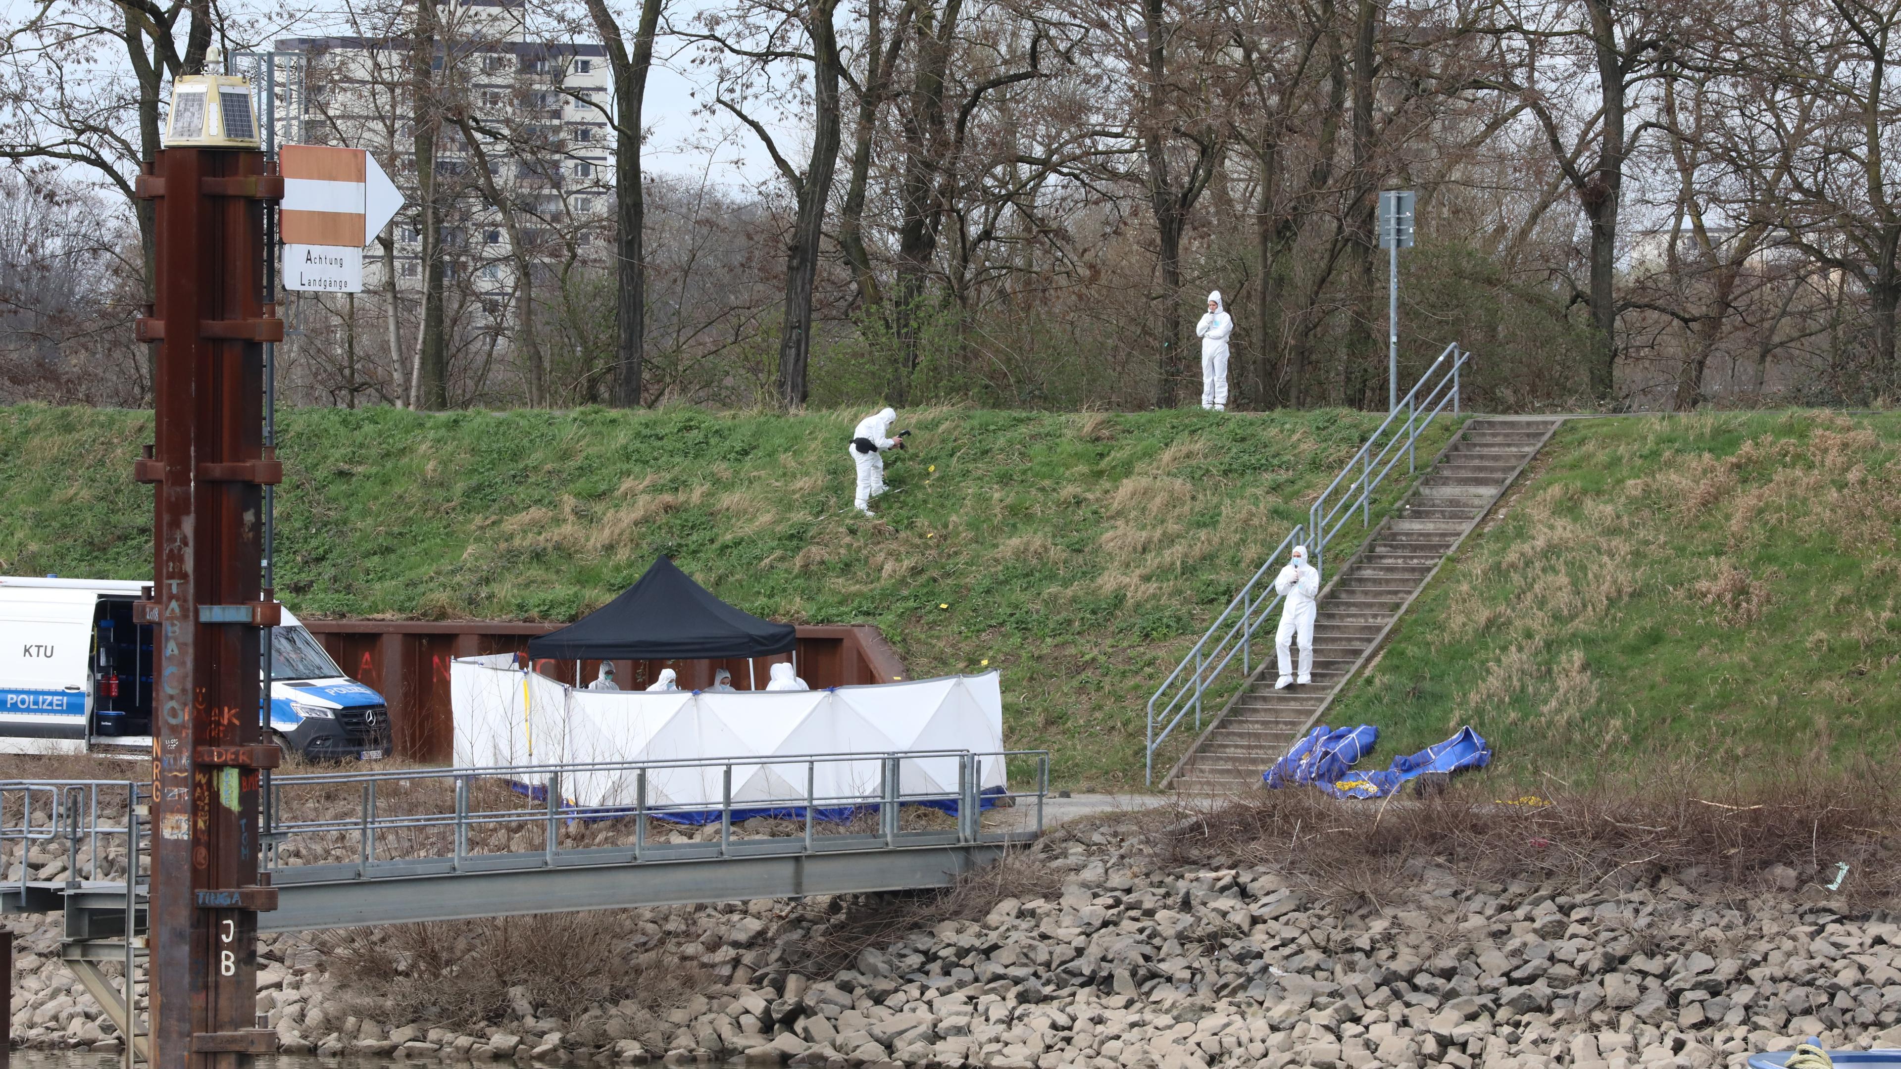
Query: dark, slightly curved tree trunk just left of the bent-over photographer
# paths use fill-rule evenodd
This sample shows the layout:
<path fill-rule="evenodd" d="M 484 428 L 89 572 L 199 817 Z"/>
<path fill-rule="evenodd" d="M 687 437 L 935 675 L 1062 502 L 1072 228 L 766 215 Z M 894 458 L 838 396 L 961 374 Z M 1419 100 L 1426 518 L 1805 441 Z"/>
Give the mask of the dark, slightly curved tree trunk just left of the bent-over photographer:
<path fill-rule="evenodd" d="M 838 169 L 838 0 L 812 0 L 812 160 L 798 183 L 798 219 L 785 247 L 785 321 L 779 333 L 779 403 L 806 403 L 812 360 L 812 287 L 817 282 L 825 202 Z"/>

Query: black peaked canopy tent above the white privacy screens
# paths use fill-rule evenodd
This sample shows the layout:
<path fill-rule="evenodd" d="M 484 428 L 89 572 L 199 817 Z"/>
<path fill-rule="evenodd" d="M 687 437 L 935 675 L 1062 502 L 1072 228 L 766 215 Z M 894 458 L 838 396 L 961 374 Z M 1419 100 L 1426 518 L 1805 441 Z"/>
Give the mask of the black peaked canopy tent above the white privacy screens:
<path fill-rule="evenodd" d="M 798 632 L 726 605 L 656 557 L 641 582 L 580 620 L 528 639 L 534 660 L 703 660 L 791 652 Z"/>

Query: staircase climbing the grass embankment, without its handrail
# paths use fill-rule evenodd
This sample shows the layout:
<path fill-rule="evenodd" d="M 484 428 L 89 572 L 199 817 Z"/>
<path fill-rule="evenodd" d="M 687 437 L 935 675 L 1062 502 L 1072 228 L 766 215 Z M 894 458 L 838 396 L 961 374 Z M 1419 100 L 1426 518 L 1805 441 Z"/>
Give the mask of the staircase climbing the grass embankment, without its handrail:
<path fill-rule="evenodd" d="M 1557 418 L 1485 417 L 1466 422 L 1399 512 L 1321 590 L 1314 618 L 1314 683 L 1276 690 L 1272 628 L 1262 668 L 1222 709 L 1163 786 L 1182 793 L 1232 793 L 1260 774 L 1317 723 L 1340 685 L 1380 647 L 1426 580 L 1464 542 L 1506 487 L 1557 430 Z M 1327 571 L 1329 561 L 1321 561 Z M 1298 652 L 1296 652 L 1298 656 Z"/>

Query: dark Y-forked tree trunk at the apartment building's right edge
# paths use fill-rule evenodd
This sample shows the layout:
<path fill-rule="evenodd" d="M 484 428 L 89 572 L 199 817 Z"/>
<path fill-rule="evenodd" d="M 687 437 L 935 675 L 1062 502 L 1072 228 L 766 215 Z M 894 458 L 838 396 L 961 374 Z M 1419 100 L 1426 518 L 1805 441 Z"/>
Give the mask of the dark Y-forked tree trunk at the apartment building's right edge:
<path fill-rule="evenodd" d="M 654 30 L 660 2 L 641 0 L 633 53 L 622 38 L 620 23 L 605 0 L 587 0 L 587 17 L 606 44 L 614 68 L 614 405 L 643 403 L 643 363 L 646 344 L 646 198 L 641 177 L 641 112 L 646 103 L 646 72 L 654 67 Z"/>

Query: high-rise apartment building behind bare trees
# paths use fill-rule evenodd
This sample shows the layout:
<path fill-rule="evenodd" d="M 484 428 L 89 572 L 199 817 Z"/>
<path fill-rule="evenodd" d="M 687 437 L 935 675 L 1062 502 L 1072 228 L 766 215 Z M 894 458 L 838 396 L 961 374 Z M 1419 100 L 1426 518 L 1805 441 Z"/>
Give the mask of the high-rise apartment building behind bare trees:
<path fill-rule="evenodd" d="M 445 285 L 496 310 L 519 262 L 509 221 L 538 264 L 589 259 L 580 247 L 599 245 L 614 207 L 612 82 L 599 44 L 530 27 L 521 0 L 439 2 L 426 46 L 413 0 L 348 29 L 276 44 L 274 112 L 279 145 L 367 148 L 403 190 L 394 249 L 365 253 L 365 289 L 384 289 L 392 268 L 397 289 L 422 285 L 418 126 L 433 131 Z"/>

